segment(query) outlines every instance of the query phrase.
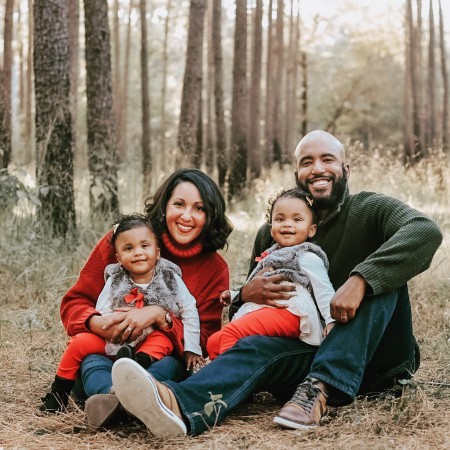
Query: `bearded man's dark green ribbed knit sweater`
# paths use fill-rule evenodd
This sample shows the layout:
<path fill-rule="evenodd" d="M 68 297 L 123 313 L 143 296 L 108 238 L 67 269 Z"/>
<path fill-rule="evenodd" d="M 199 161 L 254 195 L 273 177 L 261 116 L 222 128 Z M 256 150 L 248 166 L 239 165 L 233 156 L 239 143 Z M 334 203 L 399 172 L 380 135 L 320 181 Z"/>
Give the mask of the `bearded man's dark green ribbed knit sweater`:
<path fill-rule="evenodd" d="M 346 191 L 319 224 L 313 241 L 327 254 L 329 276 L 338 289 L 352 274 L 368 283 L 368 295 L 392 291 L 426 270 L 442 242 L 435 222 L 392 197 L 374 192 Z M 273 244 L 270 226 L 256 236 L 255 256 Z"/>

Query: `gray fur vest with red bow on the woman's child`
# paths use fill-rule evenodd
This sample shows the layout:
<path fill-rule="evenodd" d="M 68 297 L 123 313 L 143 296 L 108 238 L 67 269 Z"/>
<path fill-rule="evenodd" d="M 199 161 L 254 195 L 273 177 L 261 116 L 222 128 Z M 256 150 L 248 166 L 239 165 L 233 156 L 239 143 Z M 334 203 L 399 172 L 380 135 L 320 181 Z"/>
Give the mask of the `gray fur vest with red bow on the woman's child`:
<path fill-rule="evenodd" d="M 160 258 L 156 263 L 153 280 L 142 289 L 133 283 L 128 272 L 120 264 L 109 264 L 105 268 L 105 278 L 112 277 L 111 305 L 113 309 L 135 306 L 135 302 L 126 303 L 124 297 L 132 289 L 137 288 L 144 294 L 144 306 L 159 305 L 179 317 L 178 284 L 175 278 L 177 275 L 181 277 L 181 269 L 167 259 Z"/>

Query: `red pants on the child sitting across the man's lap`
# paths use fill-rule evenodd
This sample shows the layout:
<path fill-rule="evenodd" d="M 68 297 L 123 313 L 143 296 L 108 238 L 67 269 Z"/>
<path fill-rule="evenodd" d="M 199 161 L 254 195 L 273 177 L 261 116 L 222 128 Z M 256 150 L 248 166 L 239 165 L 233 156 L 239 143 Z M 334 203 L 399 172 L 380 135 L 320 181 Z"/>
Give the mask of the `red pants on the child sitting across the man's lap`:
<path fill-rule="evenodd" d="M 233 347 L 246 336 L 277 336 L 298 339 L 300 317 L 286 309 L 261 308 L 225 325 L 206 344 L 210 359 Z"/>

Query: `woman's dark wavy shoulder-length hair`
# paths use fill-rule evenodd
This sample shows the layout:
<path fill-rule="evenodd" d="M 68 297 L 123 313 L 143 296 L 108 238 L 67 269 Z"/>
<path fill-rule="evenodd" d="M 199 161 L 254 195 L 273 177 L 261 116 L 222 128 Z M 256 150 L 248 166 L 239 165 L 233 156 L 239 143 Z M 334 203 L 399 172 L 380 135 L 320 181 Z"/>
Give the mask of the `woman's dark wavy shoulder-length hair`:
<path fill-rule="evenodd" d="M 145 200 L 145 213 L 152 221 L 156 234 L 161 236 L 163 231 L 167 231 L 165 217 L 167 202 L 176 186 L 185 182 L 192 183 L 198 189 L 205 208 L 206 224 L 200 235 L 203 247 L 208 251 L 224 248 L 228 236 L 233 231 L 233 225 L 225 215 L 225 200 L 217 184 L 198 169 L 175 171 L 153 197 Z"/>

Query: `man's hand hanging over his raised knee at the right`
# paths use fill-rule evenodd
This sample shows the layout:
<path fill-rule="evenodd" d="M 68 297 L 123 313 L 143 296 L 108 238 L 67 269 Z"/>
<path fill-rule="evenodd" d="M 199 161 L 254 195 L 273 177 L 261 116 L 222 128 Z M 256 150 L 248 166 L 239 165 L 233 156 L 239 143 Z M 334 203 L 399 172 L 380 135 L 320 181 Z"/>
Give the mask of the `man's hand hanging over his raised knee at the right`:
<path fill-rule="evenodd" d="M 352 320 L 364 298 L 366 286 L 361 275 L 352 275 L 334 294 L 330 304 L 331 317 L 341 323 Z"/>

